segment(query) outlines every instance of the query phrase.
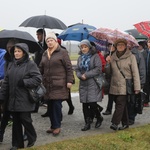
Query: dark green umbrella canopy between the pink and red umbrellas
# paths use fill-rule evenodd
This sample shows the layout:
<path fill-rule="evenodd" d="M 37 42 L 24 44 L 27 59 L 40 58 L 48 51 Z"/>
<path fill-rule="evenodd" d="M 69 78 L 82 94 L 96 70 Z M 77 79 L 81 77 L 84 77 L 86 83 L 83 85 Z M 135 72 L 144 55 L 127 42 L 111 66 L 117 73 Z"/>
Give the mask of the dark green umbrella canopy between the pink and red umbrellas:
<path fill-rule="evenodd" d="M 140 32 L 138 32 L 137 29 L 129 29 L 129 30 L 125 30 L 125 32 L 132 35 L 137 40 L 147 39 L 147 37 L 145 35 L 141 34 Z"/>

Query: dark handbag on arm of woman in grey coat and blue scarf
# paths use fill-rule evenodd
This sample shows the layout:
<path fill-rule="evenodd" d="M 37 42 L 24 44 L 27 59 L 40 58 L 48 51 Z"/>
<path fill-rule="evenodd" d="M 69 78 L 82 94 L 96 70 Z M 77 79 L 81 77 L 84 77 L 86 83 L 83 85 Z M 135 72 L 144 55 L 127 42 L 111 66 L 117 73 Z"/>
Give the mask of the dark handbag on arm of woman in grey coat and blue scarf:
<path fill-rule="evenodd" d="M 102 88 L 106 88 L 106 87 L 109 86 L 109 84 L 108 84 L 108 82 L 107 82 L 107 80 L 105 78 L 105 74 L 104 73 L 102 73 L 102 74 L 100 74 L 98 76 L 95 76 L 94 80 L 95 80 L 96 84 L 98 85 L 98 87 L 100 88 L 100 90 Z"/>

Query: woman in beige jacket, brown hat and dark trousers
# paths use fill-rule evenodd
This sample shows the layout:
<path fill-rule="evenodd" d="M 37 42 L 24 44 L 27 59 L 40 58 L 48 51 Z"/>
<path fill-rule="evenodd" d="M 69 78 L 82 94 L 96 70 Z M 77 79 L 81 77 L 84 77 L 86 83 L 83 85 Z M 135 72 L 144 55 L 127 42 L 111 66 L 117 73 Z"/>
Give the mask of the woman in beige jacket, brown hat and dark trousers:
<path fill-rule="evenodd" d="M 115 42 L 116 51 L 108 58 L 106 73 L 111 74 L 111 83 L 109 93 L 115 97 L 115 111 L 112 117 L 113 130 L 123 130 L 129 127 L 126 90 L 126 79 L 133 79 L 134 93 L 140 92 L 140 77 L 135 56 L 128 50 L 127 41 L 118 39 Z M 122 127 L 118 125 L 122 122 Z"/>

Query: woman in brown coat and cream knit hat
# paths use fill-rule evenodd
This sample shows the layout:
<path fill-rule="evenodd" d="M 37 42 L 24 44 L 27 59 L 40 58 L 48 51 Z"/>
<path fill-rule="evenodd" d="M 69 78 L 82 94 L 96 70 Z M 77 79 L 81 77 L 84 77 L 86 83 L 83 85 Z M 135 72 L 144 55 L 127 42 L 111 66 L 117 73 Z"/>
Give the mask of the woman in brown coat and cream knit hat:
<path fill-rule="evenodd" d="M 54 136 L 61 132 L 62 101 L 68 99 L 73 83 L 73 69 L 67 50 L 61 48 L 55 33 L 46 36 L 47 50 L 43 53 L 39 68 L 46 87 L 44 99 L 47 100 L 50 129 Z"/>

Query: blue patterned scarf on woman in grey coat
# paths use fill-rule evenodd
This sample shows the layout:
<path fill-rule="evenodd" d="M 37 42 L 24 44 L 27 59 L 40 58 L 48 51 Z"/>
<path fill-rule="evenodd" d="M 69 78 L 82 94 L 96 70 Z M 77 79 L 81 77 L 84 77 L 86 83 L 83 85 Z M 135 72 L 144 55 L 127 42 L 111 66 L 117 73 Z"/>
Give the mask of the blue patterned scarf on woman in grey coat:
<path fill-rule="evenodd" d="M 81 70 L 88 71 L 90 69 L 91 56 L 92 55 L 90 53 L 82 54 L 81 55 L 81 58 L 82 58 L 81 66 L 80 66 Z"/>

